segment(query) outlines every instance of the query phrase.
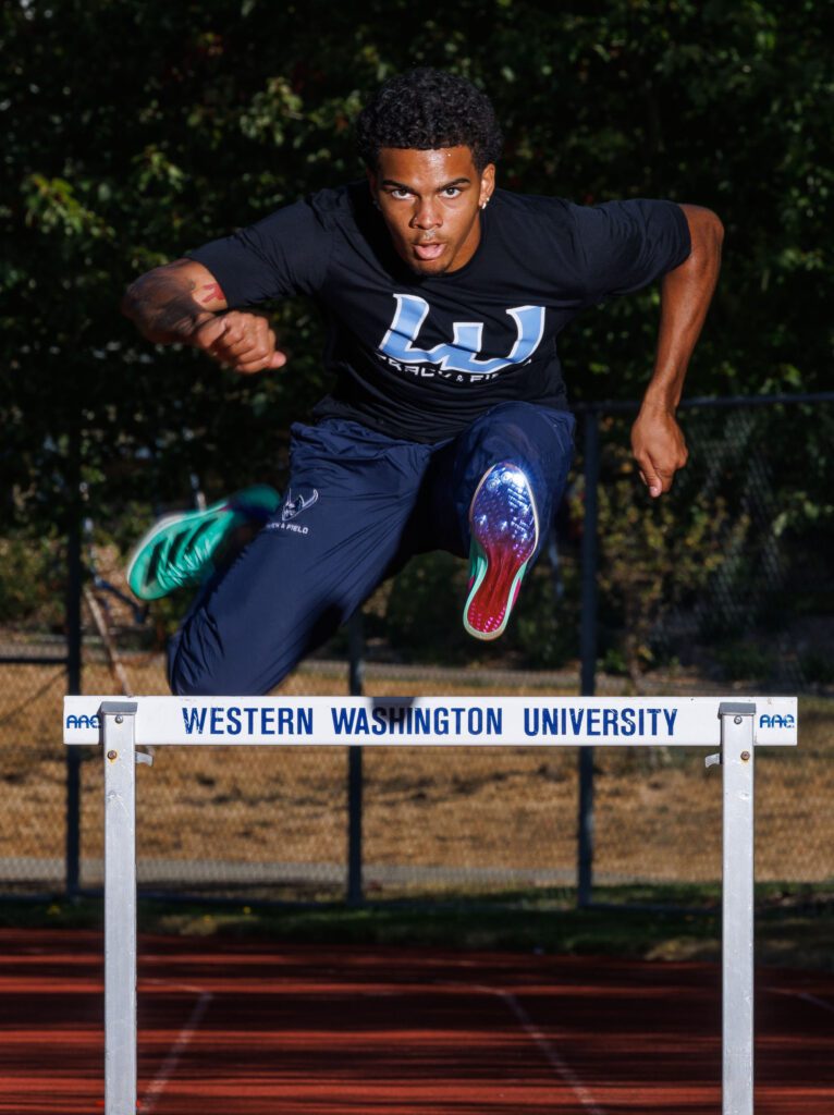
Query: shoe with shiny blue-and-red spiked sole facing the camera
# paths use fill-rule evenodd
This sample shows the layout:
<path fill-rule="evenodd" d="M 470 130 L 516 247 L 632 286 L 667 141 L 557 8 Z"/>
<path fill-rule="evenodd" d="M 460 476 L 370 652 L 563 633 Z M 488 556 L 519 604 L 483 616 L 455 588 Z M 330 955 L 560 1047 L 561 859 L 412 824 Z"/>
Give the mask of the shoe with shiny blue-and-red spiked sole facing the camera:
<path fill-rule="evenodd" d="M 503 633 L 539 542 L 530 481 L 517 465 L 493 465 L 469 506 L 469 595 L 464 628 L 476 639 Z"/>

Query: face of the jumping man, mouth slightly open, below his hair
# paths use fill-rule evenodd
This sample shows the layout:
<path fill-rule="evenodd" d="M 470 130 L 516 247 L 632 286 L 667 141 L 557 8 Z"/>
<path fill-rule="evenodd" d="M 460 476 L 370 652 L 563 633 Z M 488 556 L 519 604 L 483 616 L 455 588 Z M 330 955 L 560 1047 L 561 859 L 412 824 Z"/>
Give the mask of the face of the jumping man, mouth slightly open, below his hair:
<path fill-rule="evenodd" d="M 397 254 L 421 275 L 457 271 L 481 240 L 478 211 L 495 187 L 495 167 L 478 174 L 468 147 L 382 147 L 371 191 Z"/>

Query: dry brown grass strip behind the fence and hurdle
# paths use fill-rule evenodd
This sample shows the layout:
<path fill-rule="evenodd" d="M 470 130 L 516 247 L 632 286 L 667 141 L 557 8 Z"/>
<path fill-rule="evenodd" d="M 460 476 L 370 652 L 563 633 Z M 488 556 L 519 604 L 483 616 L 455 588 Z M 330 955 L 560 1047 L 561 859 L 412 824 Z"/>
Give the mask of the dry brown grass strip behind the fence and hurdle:
<path fill-rule="evenodd" d="M 158 657 L 128 663 L 136 692 L 165 692 Z M 346 692 L 341 675 L 314 663 L 281 687 L 298 695 Z M 532 683 L 488 690 L 473 672 L 370 679 L 369 695 L 517 695 L 554 692 Z M 64 855 L 65 748 L 60 667 L 0 666 L 0 862 L 16 878 L 21 857 Z M 114 692 L 104 665 L 85 669 L 85 691 Z M 834 706 L 801 702 L 801 746 L 757 756 L 757 878 L 824 881 L 834 876 Z M 81 855 L 101 856 L 101 770 L 85 748 Z M 595 871 L 600 881 L 712 881 L 720 874 L 720 773 L 706 770 L 704 749 L 662 753 L 598 749 Z M 575 870 L 576 752 L 559 748 L 368 749 L 365 764 L 366 888 L 512 885 L 511 872 L 570 882 Z M 138 846 L 148 878 L 207 884 L 230 864 L 283 865 L 284 879 L 310 864 L 322 880 L 343 869 L 347 832 L 346 748 L 157 748 L 138 772 Z M 154 874 L 153 863 L 164 864 Z M 182 862 L 188 861 L 188 863 Z M 202 866 L 198 866 L 201 865 Z M 222 865 L 222 866 L 219 866 Z M 443 869 L 426 883 L 421 869 Z M 94 869 L 90 869 L 94 871 Z M 265 869 L 264 869 L 265 871 Z M 330 874 L 328 874 L 328 872 Z M 376 873 L 376 874 L 375 874 Z M 555 874 L 554 874 L 555 873 Z M 95 871 L 94 871 L 95 874 Z M 261 874 L 266 878 L 262 871 Z M 314 872 L 313 872 L 314 875 Z M 436 878 L 435 878 L 436 876 Z M 166 876 L 167 878 L 167 876 Z M 423 882 L 420 882 L 420 878 Z M 502 882 L 502 879 L 504 882 Z M 404 881 L 405 880 L 405 881 Z M 202 882 L 201 882 L 202 881 Z M 98 879 L 90 878 L 94 885 Z"/>

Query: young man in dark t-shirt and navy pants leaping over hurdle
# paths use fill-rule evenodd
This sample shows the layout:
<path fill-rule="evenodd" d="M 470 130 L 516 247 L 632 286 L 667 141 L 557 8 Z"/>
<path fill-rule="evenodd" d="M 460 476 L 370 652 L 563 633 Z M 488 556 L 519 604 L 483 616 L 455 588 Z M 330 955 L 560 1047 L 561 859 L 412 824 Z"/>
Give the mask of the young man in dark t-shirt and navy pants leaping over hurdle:
<path fill-rule="evenodd" d="M 203 580 L 173 640 L 181 695 L 269 691 L 419 552 L 471 559 L 466 630 L 502 633 L 572 455 L 556 336 L 584 307 L 662 279 L 654 371 L 632 433 L 643 482 L 686 463 L 675 420 L 715 288 L 721 225 L 671 202 L 595 207 L 496 190 L 502 137 L 463 78 L 392 78 L 359 117 L 367 181 L 326 190 L 140 278 L 125 312 L 243 375 L 287 362 L 245 308 L 306 293 L 327 311 L 336 386 L 292 427 L 281 503 L 250 489 L 157 524 L 129 580 Z M 263 529 L 205 580 L 248 520 Z"/>

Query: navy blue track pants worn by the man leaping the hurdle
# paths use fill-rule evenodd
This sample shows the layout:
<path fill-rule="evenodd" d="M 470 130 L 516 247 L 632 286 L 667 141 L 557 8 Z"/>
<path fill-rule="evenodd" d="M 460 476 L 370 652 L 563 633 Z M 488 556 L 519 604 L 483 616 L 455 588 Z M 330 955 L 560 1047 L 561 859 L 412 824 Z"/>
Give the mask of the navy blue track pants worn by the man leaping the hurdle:
<path fill-rule="evenodd" d="M 269 692 L 416 553 L 469 549 L 469 502 L 492 465 L 530 478 L 541 537 L 573 455 L 564 410 L 505 403 L 449 442 L 420 445 L 337 418 L 292 427 L 283 505 L 208 582 L 169 647 L 181 696 Z"/>

